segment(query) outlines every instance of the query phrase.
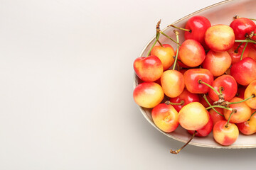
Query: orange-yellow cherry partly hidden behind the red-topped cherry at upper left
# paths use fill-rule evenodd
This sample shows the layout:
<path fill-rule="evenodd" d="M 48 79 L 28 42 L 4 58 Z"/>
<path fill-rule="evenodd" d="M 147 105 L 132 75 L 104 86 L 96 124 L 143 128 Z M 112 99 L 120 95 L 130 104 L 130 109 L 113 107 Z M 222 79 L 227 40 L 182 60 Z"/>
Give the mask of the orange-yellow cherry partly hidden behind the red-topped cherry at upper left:
<path fill-rule="evenodd" d="M 171 45 L 155 45 L 151 50 L 151 55 L 159 57 L 164 70 L 169 69 L 174 64 L 174 48 Z"/>

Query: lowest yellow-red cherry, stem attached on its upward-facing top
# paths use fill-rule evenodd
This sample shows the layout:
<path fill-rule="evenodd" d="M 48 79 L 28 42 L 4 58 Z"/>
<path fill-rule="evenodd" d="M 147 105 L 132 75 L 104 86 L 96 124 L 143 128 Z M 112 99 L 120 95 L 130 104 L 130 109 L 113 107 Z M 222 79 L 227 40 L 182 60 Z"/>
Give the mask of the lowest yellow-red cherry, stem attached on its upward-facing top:
<path fill-rule="evenodd" d="M 213 126 L 213 138 L 220 145 L 232 145 L 239 135 L 238 127 L 234 123 L 228 123 L 227 120 L 220 120 Z"/>

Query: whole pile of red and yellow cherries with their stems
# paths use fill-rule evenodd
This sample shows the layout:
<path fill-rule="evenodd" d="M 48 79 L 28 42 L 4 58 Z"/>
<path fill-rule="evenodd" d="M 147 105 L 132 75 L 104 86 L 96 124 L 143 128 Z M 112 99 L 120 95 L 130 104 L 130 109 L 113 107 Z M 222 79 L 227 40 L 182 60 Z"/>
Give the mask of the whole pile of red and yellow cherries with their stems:
<path fill-rule="evenodd" d="M 134 89 L 134 101 L 152 108 L 152 119 L 160 130 L 173 132 L 181 125 L 192 135 L 188 142 L 213 132 L 216 142 L 228 146 L 238 139 L 239 132 L 255 133 L 253 19 L 235 16 L 230 26 L 211 26 L 206 17 L 193 16 L 185 28 L 170 26 L 185 31 L 185 41 L 179 42 L 178 30 L 174 30 L 176 40 L 170 38 L 161 31 L 160 21 L 157 23 L 156 40 L 148 55 L 134 61 L 141 80 Z M 161 44 L 160 35 L 176 42 L 176 51 Z"/>

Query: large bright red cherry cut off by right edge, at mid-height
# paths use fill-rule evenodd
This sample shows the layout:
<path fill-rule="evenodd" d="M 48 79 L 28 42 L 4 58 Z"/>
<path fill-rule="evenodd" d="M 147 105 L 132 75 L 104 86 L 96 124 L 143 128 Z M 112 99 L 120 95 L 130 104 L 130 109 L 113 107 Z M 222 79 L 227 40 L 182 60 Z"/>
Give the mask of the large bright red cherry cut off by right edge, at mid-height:
<path fill-rule="evenodd" d="M 250 57 L 244 58 L 240 62 L 233 64 L 230 74 L 238 84 L 247 86 L 256 79 L 256 61 Z"/>

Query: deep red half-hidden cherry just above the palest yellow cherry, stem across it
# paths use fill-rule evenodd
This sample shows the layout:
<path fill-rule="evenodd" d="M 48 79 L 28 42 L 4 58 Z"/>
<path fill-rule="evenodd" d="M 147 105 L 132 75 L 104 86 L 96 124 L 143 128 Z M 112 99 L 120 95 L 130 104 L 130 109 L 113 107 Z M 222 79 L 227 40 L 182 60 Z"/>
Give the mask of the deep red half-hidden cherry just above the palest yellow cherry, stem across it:
<path fill-rule="evenodd" d="M 180 96 L 176 98 L 170 98 L 171 103 L 181 103 L 184 101 L 183 105 L 173 105 L 176 111 L 181 111 L 183 106 L 186 106 L 188 103 L 199 102 L 198 94 L 191 94 L 188 90 L 184 89 Z"/>

